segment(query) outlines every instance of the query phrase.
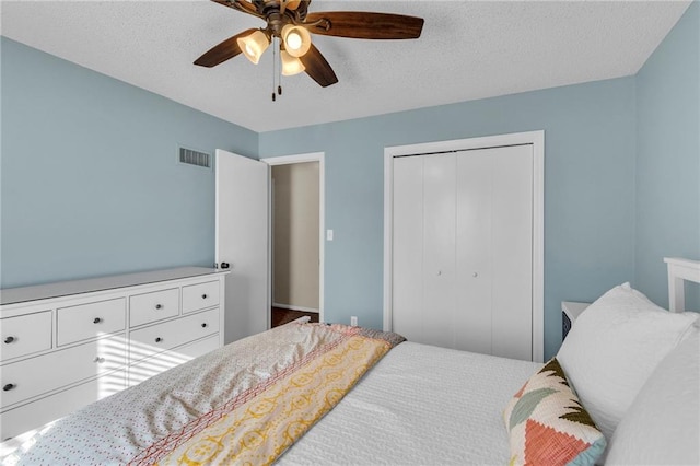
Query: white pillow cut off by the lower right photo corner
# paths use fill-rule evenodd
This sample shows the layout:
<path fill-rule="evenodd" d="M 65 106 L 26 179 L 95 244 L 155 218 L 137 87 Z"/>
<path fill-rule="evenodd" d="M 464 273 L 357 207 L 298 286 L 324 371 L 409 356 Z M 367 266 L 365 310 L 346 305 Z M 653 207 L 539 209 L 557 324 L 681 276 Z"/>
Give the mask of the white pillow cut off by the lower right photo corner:
<path fill-rule="evenodd" d="M 700 464 L 700 331 L 654 370 L 622 418 L 607 464 Z"/>

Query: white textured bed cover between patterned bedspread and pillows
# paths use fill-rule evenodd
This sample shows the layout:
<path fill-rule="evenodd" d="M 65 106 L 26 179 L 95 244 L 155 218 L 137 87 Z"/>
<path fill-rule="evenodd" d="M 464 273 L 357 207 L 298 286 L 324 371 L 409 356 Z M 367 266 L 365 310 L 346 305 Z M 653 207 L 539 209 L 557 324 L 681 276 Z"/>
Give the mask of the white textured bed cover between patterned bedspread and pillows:
<path fill-rule="evenodd" d="M 406 341 L 278 463 L 508 464 L 503 408 L 541 365 Z"/>

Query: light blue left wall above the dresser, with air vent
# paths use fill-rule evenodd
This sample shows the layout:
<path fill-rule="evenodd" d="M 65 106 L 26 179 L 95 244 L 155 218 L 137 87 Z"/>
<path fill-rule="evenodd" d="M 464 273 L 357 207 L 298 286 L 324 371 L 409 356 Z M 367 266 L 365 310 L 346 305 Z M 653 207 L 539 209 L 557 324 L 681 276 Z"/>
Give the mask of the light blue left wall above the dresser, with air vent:
<path fill-rule="evenodd" d="M 211 266 L 212 170 L 177 144 L 257 155 L 258 135 L 2 38 L 2 288 Z"/>

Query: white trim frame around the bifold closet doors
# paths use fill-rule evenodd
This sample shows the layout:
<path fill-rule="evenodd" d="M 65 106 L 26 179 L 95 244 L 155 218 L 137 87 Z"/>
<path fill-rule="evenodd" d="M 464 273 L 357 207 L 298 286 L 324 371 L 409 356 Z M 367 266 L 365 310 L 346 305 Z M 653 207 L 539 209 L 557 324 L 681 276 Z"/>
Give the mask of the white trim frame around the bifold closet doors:
<path fill-rule="evenodd" d="M 533 360 L 545 353 L 545 131 L 384 148 L 384 330 L 392 330 L 394 158 L 504 145 L 533 145 Z"/>

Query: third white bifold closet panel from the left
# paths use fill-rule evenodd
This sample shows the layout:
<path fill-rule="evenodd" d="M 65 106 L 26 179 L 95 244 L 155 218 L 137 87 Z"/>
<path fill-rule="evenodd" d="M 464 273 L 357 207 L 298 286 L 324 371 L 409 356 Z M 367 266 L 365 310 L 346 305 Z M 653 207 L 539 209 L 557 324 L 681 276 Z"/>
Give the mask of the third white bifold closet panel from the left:
<path fill-rule="evenodd" d="M 491 354 L 491 149 L 457 153 L 456 349 Z"/>

